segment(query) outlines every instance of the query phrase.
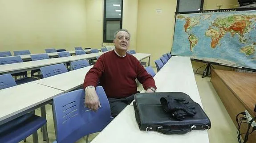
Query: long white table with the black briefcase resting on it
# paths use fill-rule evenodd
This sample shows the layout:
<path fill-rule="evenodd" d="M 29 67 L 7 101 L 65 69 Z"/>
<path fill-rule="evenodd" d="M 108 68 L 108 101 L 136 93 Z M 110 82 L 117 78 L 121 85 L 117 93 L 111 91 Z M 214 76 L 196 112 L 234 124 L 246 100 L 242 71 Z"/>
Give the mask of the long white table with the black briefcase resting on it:
<path fill-rule="evenodd" d="M 190 58 L 173 56 L 154 76 L 157 92 L 187 93 L 202 106 Z M 185 135 L 140 131 L 134 107 L 128 105 L 91 143 L 209 143 L 206 130 Z"/>

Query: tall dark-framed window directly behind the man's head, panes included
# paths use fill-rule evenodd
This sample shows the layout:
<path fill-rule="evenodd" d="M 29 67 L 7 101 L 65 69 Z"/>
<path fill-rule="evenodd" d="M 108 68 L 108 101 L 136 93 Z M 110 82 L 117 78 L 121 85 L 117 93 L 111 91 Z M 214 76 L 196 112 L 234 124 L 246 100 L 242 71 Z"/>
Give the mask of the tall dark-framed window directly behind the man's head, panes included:
<path fill-rule="evenodd" d="M 115 31 L 122 29 L 122 5 L 123 0 L 104 0 L 104 43 L 113 43 Z"/>

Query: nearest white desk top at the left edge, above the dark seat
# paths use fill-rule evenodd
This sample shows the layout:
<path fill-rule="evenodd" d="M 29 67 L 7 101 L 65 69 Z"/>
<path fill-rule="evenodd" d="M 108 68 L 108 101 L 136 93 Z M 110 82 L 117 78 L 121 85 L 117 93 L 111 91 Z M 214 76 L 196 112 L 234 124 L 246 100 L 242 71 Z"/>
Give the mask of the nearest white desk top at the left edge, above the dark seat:
<path fill-rule="evenodd" d="M 0 122 L 33 108 L 64 93 L 44 85 L 29 82 L 0 90 Z"/>

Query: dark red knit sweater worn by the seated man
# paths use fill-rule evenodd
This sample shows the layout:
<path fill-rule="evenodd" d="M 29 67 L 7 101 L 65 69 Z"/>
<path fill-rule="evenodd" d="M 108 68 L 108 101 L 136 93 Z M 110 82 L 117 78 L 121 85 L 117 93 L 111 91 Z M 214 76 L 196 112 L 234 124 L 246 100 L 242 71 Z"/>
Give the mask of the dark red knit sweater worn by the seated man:
<path fill-rule="evenodd" d="M 123 98 L 137 92 L 135 79 L 142 83 L 144 89 L 154 87 L 154 79 L 148 74 L 140 62 L 132 55 L 119 57 L 114 50 L 102 54 L 96 64 L 85 76 L 84 89 L 93 85 L 96 87 L 98 79 L 107 97 Z"/>

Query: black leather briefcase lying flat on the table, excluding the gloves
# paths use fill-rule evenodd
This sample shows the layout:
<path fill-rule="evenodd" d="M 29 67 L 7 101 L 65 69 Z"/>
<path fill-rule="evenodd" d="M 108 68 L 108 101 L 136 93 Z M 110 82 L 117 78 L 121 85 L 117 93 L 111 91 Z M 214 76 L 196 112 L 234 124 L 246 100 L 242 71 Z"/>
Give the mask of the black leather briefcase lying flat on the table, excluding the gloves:
<path fill-rule="evenodd" d="M 160 103 L 160 98 L 168 95 L 189 101 L 189 104 L 195 106 L 197 112 L 195 116 L 187 116 L 183 121 L 172 118 L 163 110 Z M 185 93 L 137 93 L 134 95 L 134 99 L 135 117 L 140 130 L 159 131 L 163 134 L 185 134 L 192 130 L 211 128 L 211 121 L 201 106 Z"/>

